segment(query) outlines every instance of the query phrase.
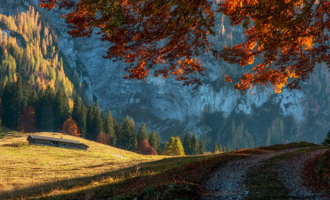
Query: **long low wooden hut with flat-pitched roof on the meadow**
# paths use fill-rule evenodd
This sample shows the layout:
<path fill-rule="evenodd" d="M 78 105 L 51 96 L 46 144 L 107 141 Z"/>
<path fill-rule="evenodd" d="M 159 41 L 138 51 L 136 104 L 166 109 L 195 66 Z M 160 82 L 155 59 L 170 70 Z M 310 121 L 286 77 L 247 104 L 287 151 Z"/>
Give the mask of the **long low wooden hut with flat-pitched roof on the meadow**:
<path fill-rule="evenodd" d="M 65 140 L 62 138 L 51 138 L 45 136 L 28 136 L 29 145 L 42 145 L 49 147 L 60 147 L 65 149 L 83 149 L 87 150 L 88 146 L 76 141 L 76 140 Z"/>

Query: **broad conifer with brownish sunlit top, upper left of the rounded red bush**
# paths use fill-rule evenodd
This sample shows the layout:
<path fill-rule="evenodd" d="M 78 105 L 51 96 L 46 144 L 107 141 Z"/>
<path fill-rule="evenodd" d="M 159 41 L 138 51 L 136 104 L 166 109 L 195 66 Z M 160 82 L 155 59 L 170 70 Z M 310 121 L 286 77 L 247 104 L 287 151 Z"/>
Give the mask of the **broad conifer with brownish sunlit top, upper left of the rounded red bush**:
<path fill-rule="evenodd" d="M 137 145 L 137 140 L 135 138 L 135 125 L 133 118 L 129 120 L 126 116 L 124 121 L 119 126 L 119 137 L 117 139 L 117 147 L 120 149 L 126 149 L 129 151 L 134 151 Z"/>

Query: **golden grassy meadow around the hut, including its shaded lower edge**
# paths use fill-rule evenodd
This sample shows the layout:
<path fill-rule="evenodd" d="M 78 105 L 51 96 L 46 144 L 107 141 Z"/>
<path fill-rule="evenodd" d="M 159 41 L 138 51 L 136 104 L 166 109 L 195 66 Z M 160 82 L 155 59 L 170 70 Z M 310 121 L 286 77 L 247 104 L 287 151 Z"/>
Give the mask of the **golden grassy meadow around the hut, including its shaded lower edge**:
<path fill-rule="evenodd" d="M 89 146 L 87 151 L 28 145 L 28 133 L 3 128 L 0 134 L 0 199 L 46 197 L 86 190 L 129 177 L 161 173 L 209 158 L 140 155 L 98 142 L 59 133 L 33 133 Z"/>

